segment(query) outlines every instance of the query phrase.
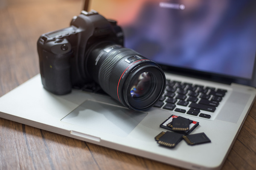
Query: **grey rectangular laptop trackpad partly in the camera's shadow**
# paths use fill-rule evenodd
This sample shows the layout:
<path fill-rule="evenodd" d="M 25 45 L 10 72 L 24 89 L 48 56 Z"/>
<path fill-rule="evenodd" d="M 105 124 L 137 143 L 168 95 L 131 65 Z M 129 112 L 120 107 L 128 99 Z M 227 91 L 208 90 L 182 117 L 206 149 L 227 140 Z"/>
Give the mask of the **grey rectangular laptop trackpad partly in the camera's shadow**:
<path fill-rule="evenodd" d="M 124 107 L 87 100 L 61 121 L 125 137 L 147 114 L 146 112 L 132 111 Z"/>

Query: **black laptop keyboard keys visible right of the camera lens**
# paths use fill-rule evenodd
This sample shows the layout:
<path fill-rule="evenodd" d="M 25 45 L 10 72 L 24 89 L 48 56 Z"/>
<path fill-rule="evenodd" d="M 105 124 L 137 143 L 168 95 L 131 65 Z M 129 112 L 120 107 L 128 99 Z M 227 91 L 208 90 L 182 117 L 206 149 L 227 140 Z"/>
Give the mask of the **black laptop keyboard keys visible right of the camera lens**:
<path fill-rule="evenodd" d="M 225 89 L 166 80 L 166 90 L 154 107 L 193 116 L 200 113 L 200 117 L 209 119 L 211 115 L 203 112 L 214 113 L 226 92 Z"/>

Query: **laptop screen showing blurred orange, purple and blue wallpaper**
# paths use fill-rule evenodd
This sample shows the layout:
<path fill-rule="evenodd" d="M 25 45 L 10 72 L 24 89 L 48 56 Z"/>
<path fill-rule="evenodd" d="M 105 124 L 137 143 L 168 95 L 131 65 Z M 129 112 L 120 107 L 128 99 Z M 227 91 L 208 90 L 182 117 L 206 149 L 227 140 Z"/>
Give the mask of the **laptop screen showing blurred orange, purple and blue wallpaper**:
<path fill-rule="evenodd" d="M 256 57 L 256 1 L 107 2 L 104 5 L 102 0 L 92 1 L 91 8 L 95 6 L 93 9 L 100 14 L 118 21 L 125 33 L 125 47 L 162 67 L 252 79 Z"/>

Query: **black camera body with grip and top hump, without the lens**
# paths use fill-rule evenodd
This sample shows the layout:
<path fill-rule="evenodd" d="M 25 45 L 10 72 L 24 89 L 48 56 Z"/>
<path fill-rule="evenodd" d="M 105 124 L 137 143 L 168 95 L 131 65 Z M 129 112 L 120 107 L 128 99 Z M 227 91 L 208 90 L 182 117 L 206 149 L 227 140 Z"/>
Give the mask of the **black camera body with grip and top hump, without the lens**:
<path fill-rule="evenodd" d="M 70 25 L 41 35 L 37 43 L 42 83 L 53 94 L 68 94 L 73 85 L 92 80 L 84 71 L 84 56 L 91 45 L 100 41 L 123 45 L 122 29 L 96 11 L 82 11 Z"/>

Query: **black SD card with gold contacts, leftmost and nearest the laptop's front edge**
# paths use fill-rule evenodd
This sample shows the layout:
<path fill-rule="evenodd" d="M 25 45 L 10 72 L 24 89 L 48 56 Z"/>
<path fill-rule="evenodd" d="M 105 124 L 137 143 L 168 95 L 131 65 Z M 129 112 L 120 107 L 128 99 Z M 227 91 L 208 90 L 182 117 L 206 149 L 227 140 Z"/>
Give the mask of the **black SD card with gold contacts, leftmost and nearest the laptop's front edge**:
<path fill-rule="evenodd" d="M 175 147 L 182 139 L 182 134 L 169 131 L 161 132 L 155 137 L 158 144 L 171 148 Z"/>

